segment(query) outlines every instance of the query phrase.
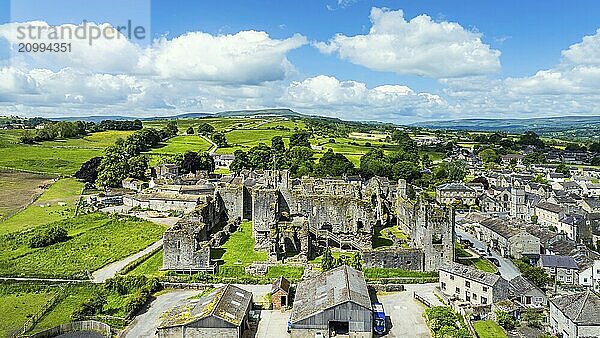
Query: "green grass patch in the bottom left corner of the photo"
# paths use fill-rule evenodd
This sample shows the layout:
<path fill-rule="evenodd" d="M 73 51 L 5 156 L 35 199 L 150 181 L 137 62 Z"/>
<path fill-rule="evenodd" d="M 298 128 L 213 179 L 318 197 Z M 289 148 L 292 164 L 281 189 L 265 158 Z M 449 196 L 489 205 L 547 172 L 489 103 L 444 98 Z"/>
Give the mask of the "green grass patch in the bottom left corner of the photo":
<path fill-rule="evenodd" d="M 2 283 L 0 287 L 0 337 L 9 337 L 52 297 L 48 287 Z"/>

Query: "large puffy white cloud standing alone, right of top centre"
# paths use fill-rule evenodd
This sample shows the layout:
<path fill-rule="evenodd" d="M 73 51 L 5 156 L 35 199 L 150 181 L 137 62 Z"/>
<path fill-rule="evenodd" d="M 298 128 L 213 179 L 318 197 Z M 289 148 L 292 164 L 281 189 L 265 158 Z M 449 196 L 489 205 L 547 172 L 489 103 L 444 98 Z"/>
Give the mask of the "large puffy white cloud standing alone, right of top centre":
<path fill-rule="evenodd" d="M 371 9 L 366 35 L 338 34 L 314 45 L 372 70 L 448 78 L 500 70 L 500 51 L 481 41 L 481 34 L 458 23 L 435 22 L 427 15 L 407 21 L 402 10 Z"/>

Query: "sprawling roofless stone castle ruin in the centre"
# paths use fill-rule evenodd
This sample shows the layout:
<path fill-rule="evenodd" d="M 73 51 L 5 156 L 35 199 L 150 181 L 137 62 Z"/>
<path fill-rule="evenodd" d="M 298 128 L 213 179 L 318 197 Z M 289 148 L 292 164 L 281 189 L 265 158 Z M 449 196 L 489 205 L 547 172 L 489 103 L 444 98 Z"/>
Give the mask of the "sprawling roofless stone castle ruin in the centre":
<path fill-rule="evenodd" d="M 167 270 L 214 271 L 211 248 L 223 244 L 244 220 L 253 222 L 255 249 L 267 251 L 272 261 L 306 262 L 337 247 L 360 251 L 367 267 L 431 271 L 454 256 L 452 211 L 408 198 L 402 180 L 394 185 L 381 177 L 294 179 L 287 170 L 180 177 L 169 169 L 156 170 L 166 177 L 157 175 L 149 190 L 193 195 L 198 204 L 164 234 Z M 410 249 L 373 249 L 375 227 L 390 225 L 410 235 Z"/>

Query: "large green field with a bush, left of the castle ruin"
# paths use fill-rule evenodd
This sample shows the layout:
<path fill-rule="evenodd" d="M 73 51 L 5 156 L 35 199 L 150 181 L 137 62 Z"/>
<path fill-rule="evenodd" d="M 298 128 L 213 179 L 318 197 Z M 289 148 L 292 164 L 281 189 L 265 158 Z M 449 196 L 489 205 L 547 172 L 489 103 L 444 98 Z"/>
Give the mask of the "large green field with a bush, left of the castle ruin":
<path fill-rule="evenodd" d="M 87 279 L 88 273 L 136 253 L 162 237 L 165 226 L 102 213 L 66 219 L 69 240 L 44 248 L 28 246 L 33 232 L 0 237 L 0 276 Z"/>

